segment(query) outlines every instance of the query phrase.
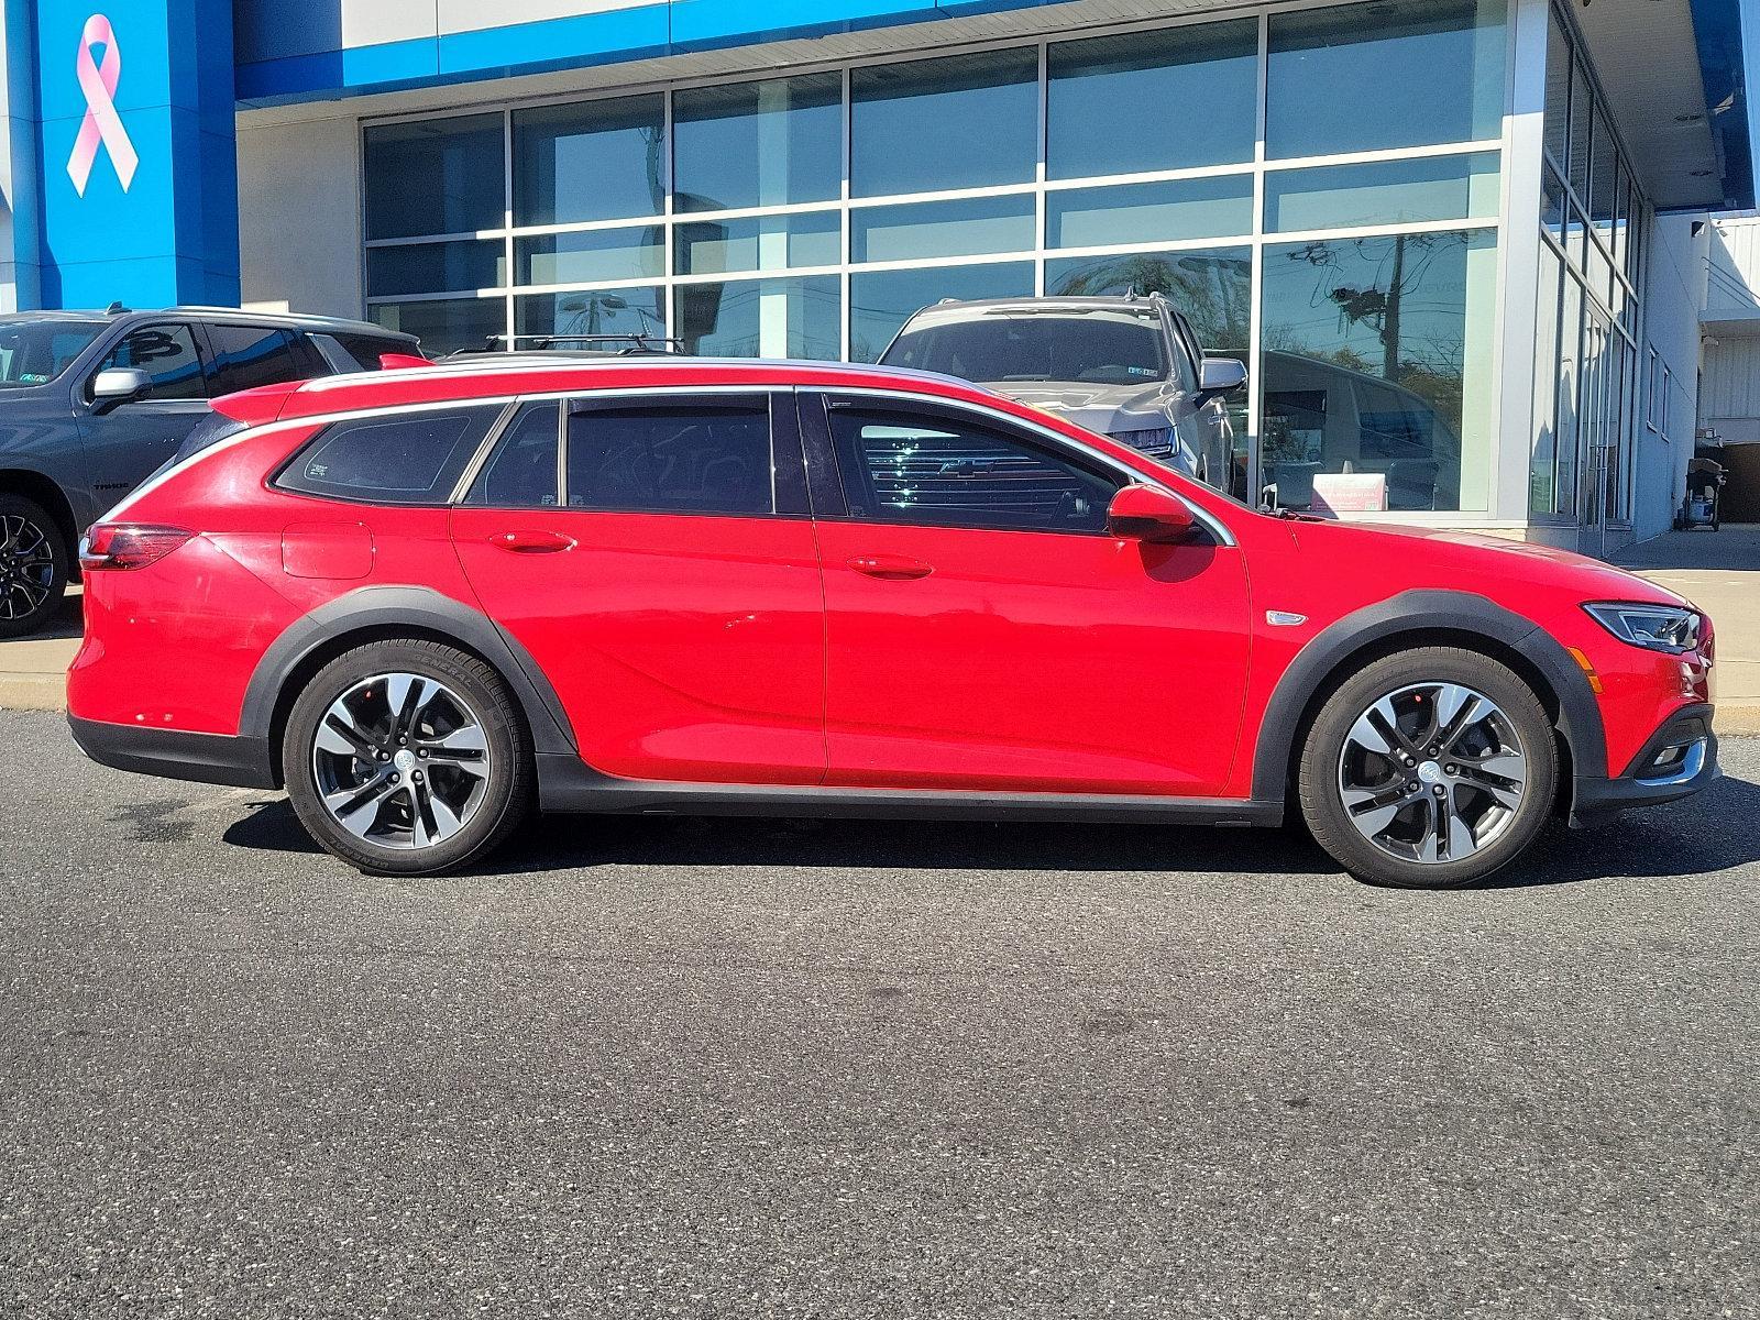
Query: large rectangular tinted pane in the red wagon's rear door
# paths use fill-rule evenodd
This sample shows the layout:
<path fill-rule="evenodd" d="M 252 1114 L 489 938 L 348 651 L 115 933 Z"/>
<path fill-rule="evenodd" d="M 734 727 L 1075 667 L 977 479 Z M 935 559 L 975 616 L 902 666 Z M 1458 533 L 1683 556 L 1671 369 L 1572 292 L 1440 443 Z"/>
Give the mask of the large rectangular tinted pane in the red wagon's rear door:
<path fill-rule="evenodd" d="M 568 507 L 593 512 L 774 512 L 769 401 L 577 405 Z"/>

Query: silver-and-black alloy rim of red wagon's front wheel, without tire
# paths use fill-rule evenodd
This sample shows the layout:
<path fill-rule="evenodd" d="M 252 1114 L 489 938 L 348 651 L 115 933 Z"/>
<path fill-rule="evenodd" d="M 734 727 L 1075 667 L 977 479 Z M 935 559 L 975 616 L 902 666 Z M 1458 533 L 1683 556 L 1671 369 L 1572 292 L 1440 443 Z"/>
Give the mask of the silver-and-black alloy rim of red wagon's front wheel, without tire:
<path fill-rule="evenodd" d="M 1339 753 L 1350 824 L 1408 862 L 1457 862 L 1496 843 L 1528 792 L 1515 723 L 1461 683 L 1415 683 L 1369 706 Z"/>

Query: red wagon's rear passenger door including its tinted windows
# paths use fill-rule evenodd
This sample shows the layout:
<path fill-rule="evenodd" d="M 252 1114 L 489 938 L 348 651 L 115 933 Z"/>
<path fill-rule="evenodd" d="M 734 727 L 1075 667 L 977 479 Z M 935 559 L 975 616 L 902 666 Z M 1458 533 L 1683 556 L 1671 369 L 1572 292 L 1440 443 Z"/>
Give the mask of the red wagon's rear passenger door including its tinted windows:
<path fill-rule="evenodd" d="M 818 558 L 792 396 L 774 429 L 771 403 L 528 403 L 452 514 L 472 588 L 605 774 L 824 778 Z"/>

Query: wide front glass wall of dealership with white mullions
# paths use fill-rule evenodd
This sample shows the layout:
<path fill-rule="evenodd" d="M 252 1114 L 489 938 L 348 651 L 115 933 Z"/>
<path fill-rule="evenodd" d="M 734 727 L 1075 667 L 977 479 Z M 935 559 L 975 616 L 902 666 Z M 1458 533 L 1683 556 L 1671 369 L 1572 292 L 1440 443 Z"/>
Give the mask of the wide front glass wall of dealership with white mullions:
<path fill-rule="evenodd" d="M 368 304 L 873 361 L 949 297 L 1163 292 L 1257 373 L 1237 491 L 1258 438 L 1285 505 L 1484 512 L 1507 46 L 1376 0 L 373 123 Z"/>

